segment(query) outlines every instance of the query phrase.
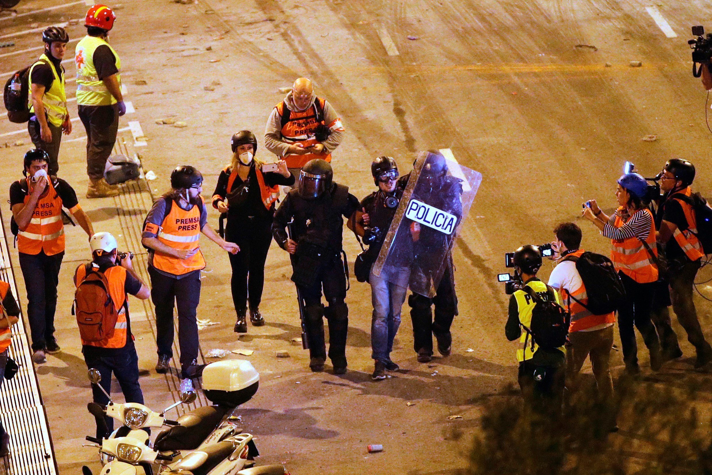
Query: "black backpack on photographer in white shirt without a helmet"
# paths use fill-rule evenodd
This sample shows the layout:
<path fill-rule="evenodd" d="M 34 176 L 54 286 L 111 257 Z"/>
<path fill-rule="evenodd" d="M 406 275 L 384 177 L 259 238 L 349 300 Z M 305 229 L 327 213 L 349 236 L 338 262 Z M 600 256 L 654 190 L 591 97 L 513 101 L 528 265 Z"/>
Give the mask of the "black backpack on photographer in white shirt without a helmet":
<path fill-rule="evenodd" d="M 580 257 L 566 256 L 564 261 L 576 263 L 576 271 L 586 288 L 588 303 L 582 303 L 570 296 L 575 302 L 594 315 L 605 315 L 618 310 L 625 298 L 625 288 L 610 259 L 586 251 Z"/>

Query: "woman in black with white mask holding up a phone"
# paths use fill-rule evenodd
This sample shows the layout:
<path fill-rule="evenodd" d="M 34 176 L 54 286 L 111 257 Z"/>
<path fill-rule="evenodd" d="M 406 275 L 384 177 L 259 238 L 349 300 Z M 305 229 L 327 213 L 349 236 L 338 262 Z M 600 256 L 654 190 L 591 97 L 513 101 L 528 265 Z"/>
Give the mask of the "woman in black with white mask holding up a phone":
<path fill-rule="evenodd" d="M 248 301 L 252 325 L 258 327 L 265 324 L 259 306 L 265 261 L 272 243 L 275 203 L 279 198 L 279 185 L 293 185 L 294 177 L 284 160 L 268 164 L 268 167 L 276 169 L 263 172 L 263 165 L 266 164 L 254 158 L 257 139 L 249 130 L 233 135 L 231 147 L 232 161 L 220 172 L 212 203 L 221 213 L 221 223 L 224 216 L 227 218 L 224 238 L 241 249 L 237 254 L 228 254 L 232 267 L 230 286 L 237 313 L 234 330 L 247 333 Z"/>

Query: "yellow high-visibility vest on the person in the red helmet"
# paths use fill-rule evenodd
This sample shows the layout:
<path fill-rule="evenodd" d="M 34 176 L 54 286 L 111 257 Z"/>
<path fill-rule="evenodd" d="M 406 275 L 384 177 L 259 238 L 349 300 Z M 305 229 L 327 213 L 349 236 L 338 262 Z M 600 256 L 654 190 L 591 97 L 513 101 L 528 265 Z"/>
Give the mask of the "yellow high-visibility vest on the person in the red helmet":
<path fill-rule="evenodd" d="M 104 82 L 99 79 L 94 67 L 94 51 L 99 46 L 109 47 L 116 58 L 116 78 L 121 87 L 121 60 L 109 43 L 97 36 L 85 36 L 77 43 L 74 62 L 77 66 L 77 104 L 78 105 L 112 105 L 117 100 L 109 92 Z"/>

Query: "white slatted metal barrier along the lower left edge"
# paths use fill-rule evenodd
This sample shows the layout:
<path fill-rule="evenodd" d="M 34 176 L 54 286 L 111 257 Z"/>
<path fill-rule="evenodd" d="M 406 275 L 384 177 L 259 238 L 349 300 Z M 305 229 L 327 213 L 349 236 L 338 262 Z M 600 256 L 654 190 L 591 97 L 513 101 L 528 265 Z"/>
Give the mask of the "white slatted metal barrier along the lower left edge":
<path fill-rule="evenodd" d="M 0 280 L 10 284 L 19 303 L 1 211 L 0 234 Z M 25 321 L 22 318 L 12 327 L 9 355 L 20 366 L 20 370 L 11 380 L 4 380 L 0 387 L 0 420 L 10 435 L 10 455 L 4 457 L 3 463 L 0 464 L 0 474 L 4 469 L 6 474 L 12 475 L 56 475 L 57 461 L 47 414 L 31 360 L 32 350 Z"/>

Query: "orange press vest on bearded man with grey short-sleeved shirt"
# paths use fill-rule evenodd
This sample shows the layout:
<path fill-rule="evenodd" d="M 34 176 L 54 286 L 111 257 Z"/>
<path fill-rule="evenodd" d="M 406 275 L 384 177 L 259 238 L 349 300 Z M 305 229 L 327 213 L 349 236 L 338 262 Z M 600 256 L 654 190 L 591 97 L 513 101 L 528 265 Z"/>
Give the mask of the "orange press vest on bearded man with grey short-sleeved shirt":
<path fill-rule="evenodd" d="M 200 210 L 203 205 L 202 198 L 199 205 L 194 205 L 185 211 L 173 203 L 171 211 L 163 219 L 161 229 L 158 231 L 158 240 L 173 249 L 190 250 L 198 249 L 190 259 L 176 259 L 159 251 L 153 253 L 153 266 L 159 271 L 182 276 L 184 273 L 198 271 L 205 268 L 205 259 L 200 251 Z"/>

